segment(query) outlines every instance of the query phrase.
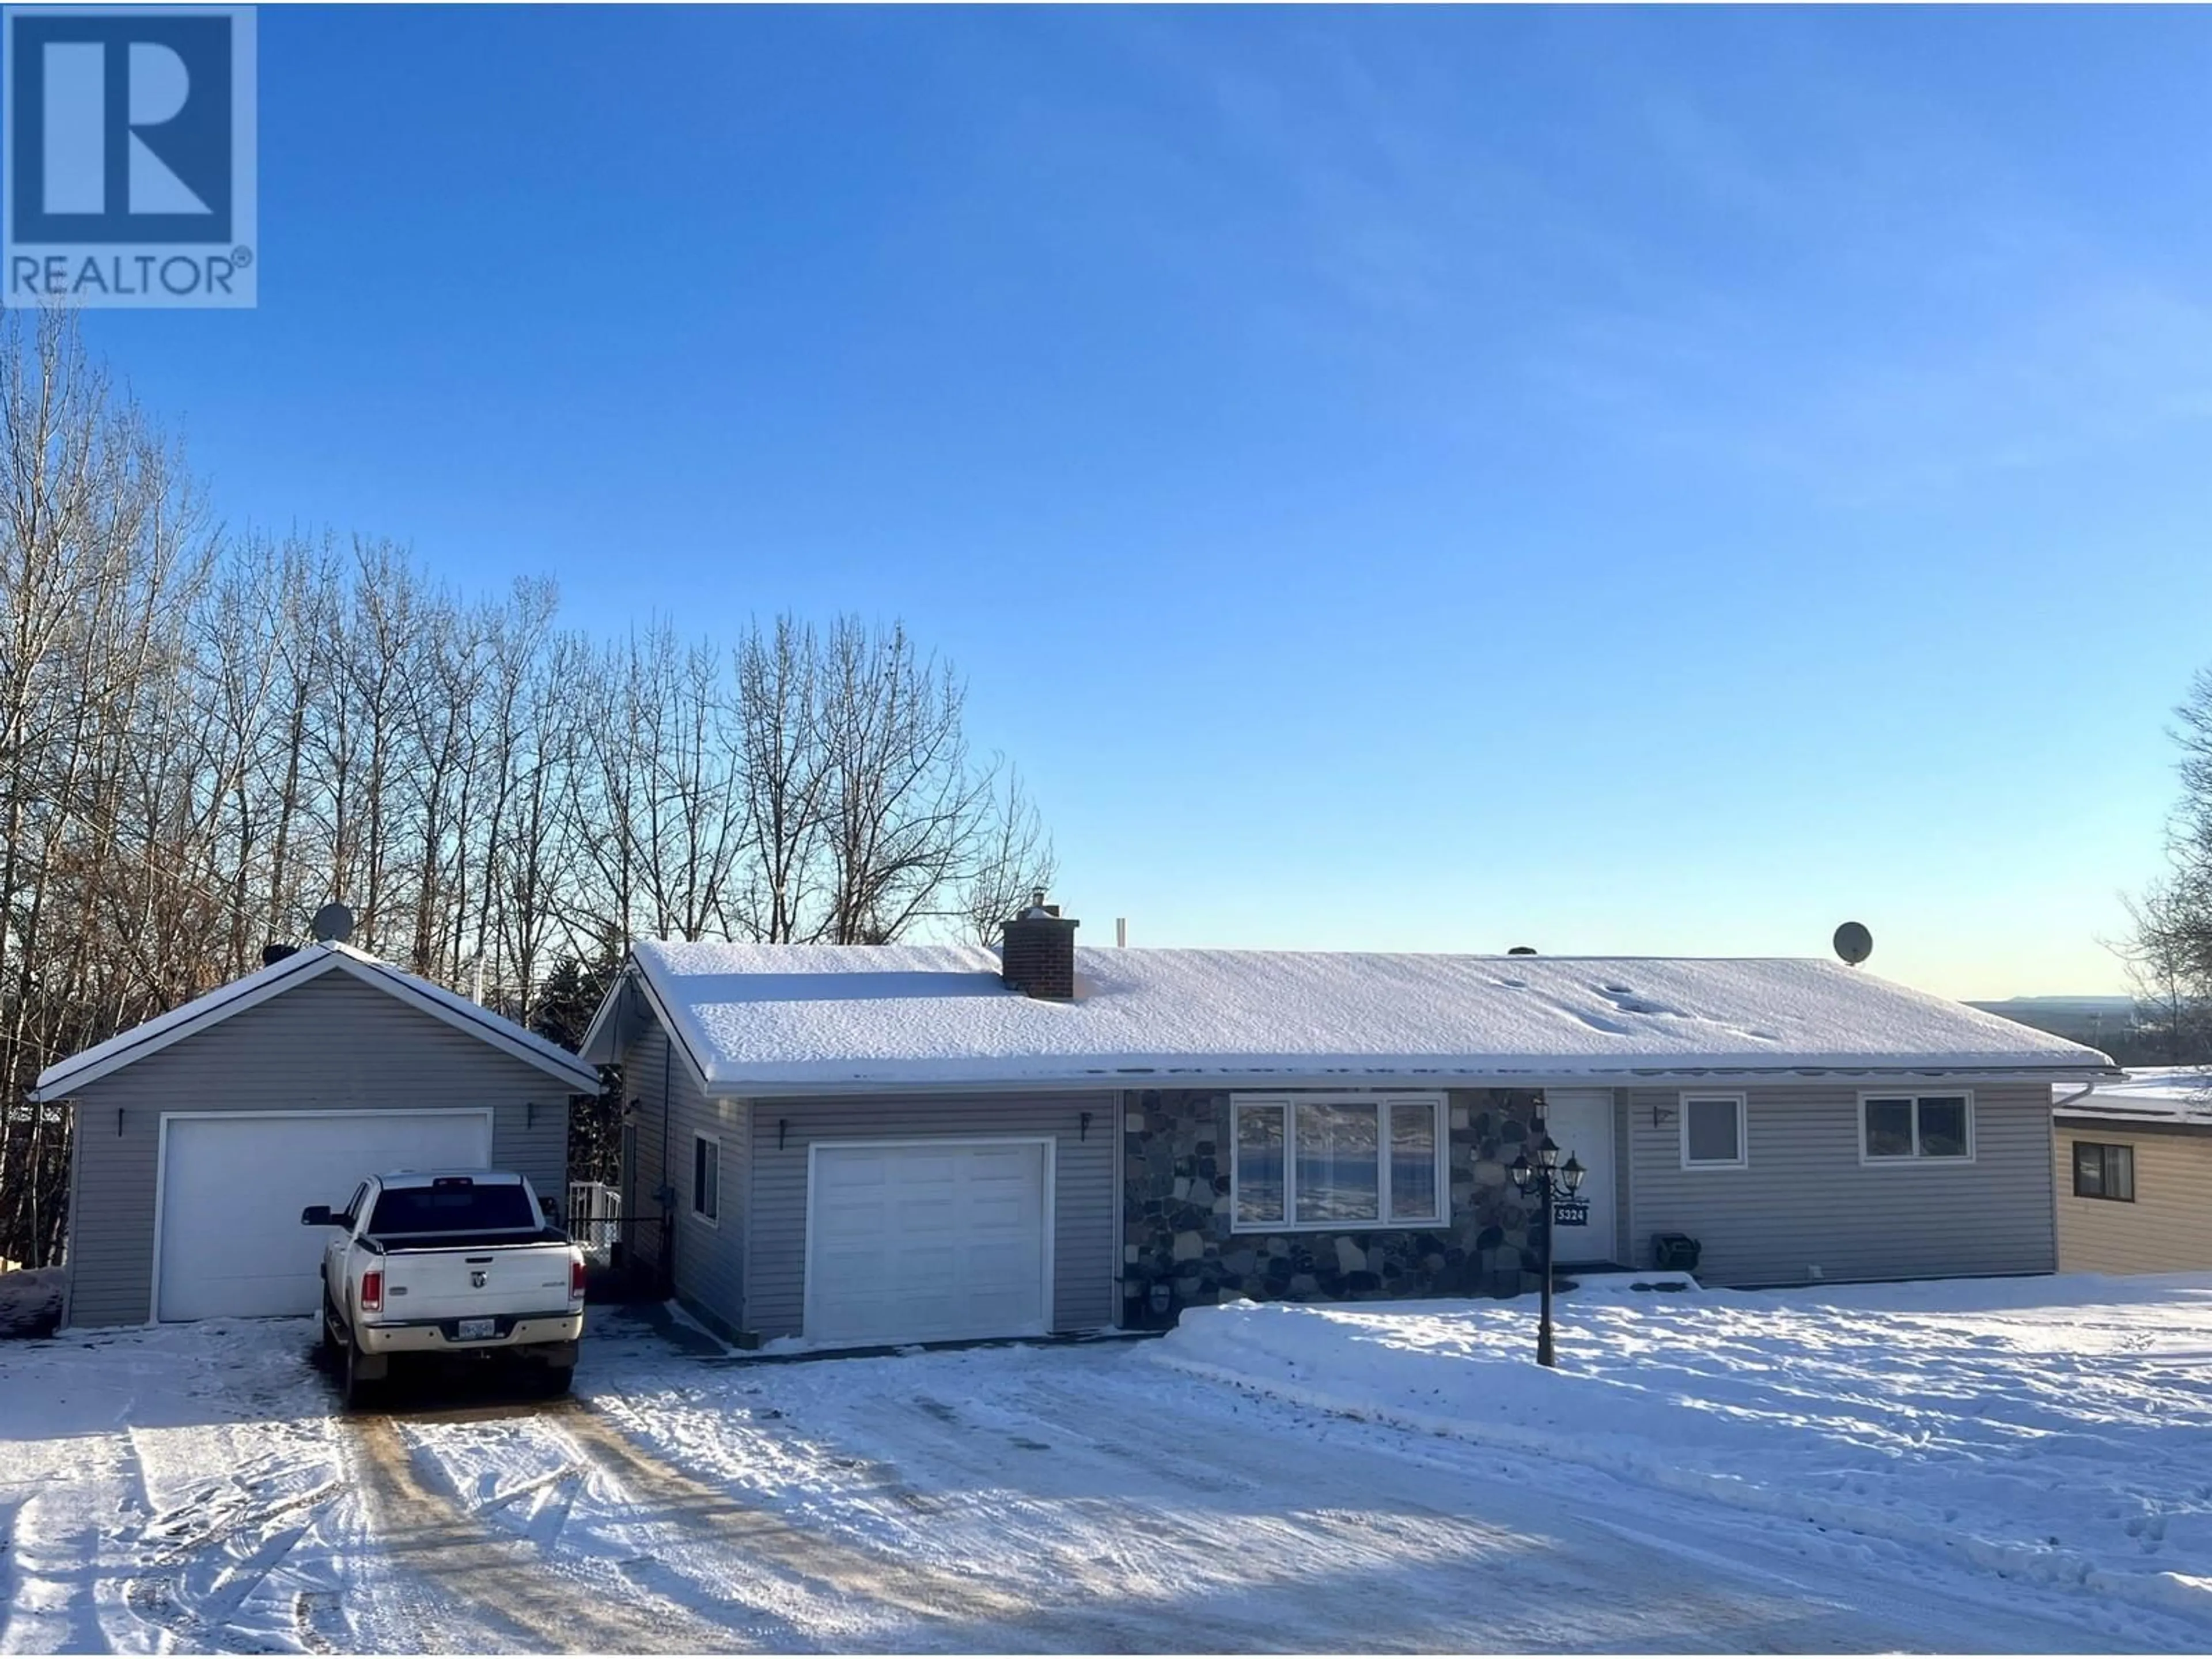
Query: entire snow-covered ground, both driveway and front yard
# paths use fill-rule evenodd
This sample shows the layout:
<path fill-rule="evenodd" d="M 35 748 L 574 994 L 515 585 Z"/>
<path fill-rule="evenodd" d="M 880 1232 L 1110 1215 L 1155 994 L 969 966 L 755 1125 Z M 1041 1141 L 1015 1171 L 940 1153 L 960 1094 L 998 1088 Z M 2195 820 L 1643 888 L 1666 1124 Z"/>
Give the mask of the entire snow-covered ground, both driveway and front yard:
<path fill-rule="evenodd" d="M 2212 1478 L 2205 1396 L 2183 1369 L 2201 1301 L 1829 1303 L 1571 1303 L 1551 1376 L 1526 1363 L 1524 1305 L 1221 1310 L 1164 1343 L 799 1363 L 595 1312 L 573 1402 L 462 1383 L 369 1416 L 334 1409 L 307 1321 L 9 1343 L 0 1652 L 2212 1641 L 2190 1595 L 2108 1584 L 2203 1557 L 2185 1469 Z M 2031 1398 L 2044 1418 L 2008 1416 Z M 1323 1409 L 1345 1405 L 1369 1420 Z M 2179 1425 L 2163 1464 L 2139 1455 L 2148 1413 Z M 2053 1520 L 2066 1548 L 2130 1537 L 2097 1544 L 2101 1577 L 1931 1546 L 1885 1509 L 1882 1473 L 1924 1504 L 1918 1467 L 2006 1422 L 2039 1475 L 2090 1484 Z M 1630 1455 L 1663 1433 L 1710 1480 Z M 2000 1462 L 1960 1455 L 1989 1480 Z M 1728 1478 L 1820 1515 L 1712 1502 Z M 2011 1502 L 1953 1486 L 1962 1533 Z M 2135 1535 L 2097 1520 L 2121 1491 Z"/>

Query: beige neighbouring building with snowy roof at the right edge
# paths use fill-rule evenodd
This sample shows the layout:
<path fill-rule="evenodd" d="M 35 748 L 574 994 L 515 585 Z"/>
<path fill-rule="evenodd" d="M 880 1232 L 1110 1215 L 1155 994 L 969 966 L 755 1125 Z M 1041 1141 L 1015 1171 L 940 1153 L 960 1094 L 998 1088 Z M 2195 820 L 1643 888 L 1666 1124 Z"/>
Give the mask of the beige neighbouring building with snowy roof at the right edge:
<path fill-rule="evenodd" d="M 2212 1270 L 2212 1073 L 2057 1091 L 2059 1272 Z"/>

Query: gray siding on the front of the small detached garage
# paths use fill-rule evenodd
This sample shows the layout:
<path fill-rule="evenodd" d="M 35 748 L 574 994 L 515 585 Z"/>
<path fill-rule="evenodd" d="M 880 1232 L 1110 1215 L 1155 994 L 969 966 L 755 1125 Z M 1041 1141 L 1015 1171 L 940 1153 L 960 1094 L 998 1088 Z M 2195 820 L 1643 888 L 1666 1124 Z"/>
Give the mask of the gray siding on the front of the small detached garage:
<path fill-rule="evenodd" d="M 498 1168 L 566 1201 L 568 1086 L 343 971 L 86 1084 L 73 1097 L 69 1321 L 150 1318 L 161 1113 L 460 1106 L 491 1108 Z"/>

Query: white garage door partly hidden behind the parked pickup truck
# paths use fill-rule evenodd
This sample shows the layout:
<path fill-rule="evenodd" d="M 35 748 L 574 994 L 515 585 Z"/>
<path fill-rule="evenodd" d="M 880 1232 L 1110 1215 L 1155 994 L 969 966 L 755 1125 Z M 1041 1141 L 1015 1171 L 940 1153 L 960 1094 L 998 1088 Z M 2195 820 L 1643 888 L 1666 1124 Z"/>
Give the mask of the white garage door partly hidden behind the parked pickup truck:
<path fill-rule="evenodd" d="M 385 1170 L 491 1168 L 491 1113 L 237 1113 L 164 1121 L 157 1318 L 312 1314 L 343 1206 Z"/>

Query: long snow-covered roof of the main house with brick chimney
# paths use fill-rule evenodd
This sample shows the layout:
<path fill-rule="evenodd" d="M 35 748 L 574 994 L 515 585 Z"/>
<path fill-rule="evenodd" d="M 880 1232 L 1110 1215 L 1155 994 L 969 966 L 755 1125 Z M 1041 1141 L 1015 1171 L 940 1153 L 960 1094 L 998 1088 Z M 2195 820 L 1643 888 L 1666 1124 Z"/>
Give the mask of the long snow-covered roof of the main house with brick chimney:
<path fill-rule="evenodd" d="M 701 1082 L 730 1091 L 1712 1073 L 2110 1075 L 2093 1048 L 1840 962 L 1075 951 L 1077 995 L 958 945 L 633 951 Z M 619 991 L 584 1040 L 613 1060 Z"/>

